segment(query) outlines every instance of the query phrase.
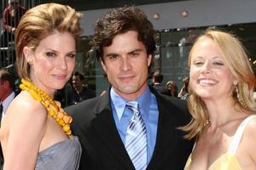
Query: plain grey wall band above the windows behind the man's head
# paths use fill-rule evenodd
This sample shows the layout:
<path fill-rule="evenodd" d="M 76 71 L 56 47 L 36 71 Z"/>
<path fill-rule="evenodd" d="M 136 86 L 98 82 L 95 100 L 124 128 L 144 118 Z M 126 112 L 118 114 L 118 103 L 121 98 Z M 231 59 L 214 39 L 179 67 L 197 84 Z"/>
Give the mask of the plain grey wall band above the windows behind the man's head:
<path fill-rule="evenodd" d="M 148 15 L 155 30 L 256 22 L 256 0 L 191 0 L 138 7 Z M 92 35 L 96 20 L 109 10 L 81 11 L 84 35 Z M 181 16 L 183 10 L 189 12 L 188 17 Z M 160 19 L 154 20 L 154 14 L 160 14 Z"/>

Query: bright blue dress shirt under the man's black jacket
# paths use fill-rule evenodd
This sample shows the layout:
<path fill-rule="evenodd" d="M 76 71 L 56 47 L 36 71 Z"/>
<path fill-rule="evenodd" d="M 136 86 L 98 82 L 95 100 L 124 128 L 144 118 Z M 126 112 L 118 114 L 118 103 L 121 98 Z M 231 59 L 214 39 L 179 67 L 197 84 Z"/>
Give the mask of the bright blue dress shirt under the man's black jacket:
<path fill-rule="evenodd" d="M 118 129 L 120 138 L 125 144 L 125 133 L 132 116 L 131 111 L 125 108 L 128 100 L 116 94 L 113 88 L 110 90 L 110 97 L 111 107 L 113 109 L 113 119 Z M 157 124 L 159 117 L 157 101 L 154 94 L 150 92 L 148 87 L 143 94 L 136 99 L 136 101 L 139 103 L 139 110 L 143 116 L 143 122 L 147 128 L 147 157 L 149 162 L 154 152 L 154 145 L 157 135 Z"/>

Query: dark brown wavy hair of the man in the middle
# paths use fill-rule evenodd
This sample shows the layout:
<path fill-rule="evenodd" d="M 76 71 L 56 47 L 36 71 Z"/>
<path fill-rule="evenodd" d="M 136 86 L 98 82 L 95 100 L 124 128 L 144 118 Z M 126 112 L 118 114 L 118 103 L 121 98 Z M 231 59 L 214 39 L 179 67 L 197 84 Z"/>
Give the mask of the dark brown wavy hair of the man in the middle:
<path fill-rule="evenodd" d="M 154 54 L 154 29 L 151 22 L 141 9 L 125 6 L 113 9 L 102 19 L 96 21 L 95 35 L 90 42 L 96 50 L 96 58 L 101 60 L 103 47 L 110 46 L 113 37 L 127 31 L 137 31 L 137 39 L 143 42 L 147 54 Z"/>

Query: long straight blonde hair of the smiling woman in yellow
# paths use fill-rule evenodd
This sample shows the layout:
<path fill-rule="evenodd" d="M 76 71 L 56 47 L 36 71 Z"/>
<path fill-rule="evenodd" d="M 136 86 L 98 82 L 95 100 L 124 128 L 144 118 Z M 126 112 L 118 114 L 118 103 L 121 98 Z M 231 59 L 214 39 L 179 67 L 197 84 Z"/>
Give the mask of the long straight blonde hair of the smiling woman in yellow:
<path fill-rule="evenodd" d="M 233 99 L 236 109 L 239 111 L 256 111 L 255 101 L 253 100 L 253 88 L 255 87 L 255 76 L 247 58 L 245 48 L 234 35 L 224 32 L 208 29 L 203 35 L 197 38 L 189 53 L 189 68 L 191 65 L 191 55 L 195 47 L 206 38 L 218 44 L 221 54 L 224 57 L 232 75 L 238 80 L 237 88 L 240 95 L 240 101 L 237 99 L 235 87 L 233 89 Z M 242 101 L 242 103 L 241 103 Z M 192 116 L 188 125 L 181 127 L 187 131 L 185 138 L 192 139 L 199 136 L 209 119 L 205 103 L 197 96 L 189 86 L 189 112 Z"/>

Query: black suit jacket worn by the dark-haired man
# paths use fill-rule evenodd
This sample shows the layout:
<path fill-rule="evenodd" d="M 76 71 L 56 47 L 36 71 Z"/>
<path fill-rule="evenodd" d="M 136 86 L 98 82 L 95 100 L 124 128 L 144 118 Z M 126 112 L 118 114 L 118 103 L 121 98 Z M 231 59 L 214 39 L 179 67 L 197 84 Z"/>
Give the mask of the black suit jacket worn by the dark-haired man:
<path fill-rule="evenodd" d="M 189 122 L 189 112 L 183 100 L 157 94 L 159 122 L 154 153 L 147 170 L 183 169 L 193 142 L 183 139 L 177 127 Z M 135 169 L 119 137 L 109 103 L 109 91 L 67 108 L 73 116 L 73 134 L 82 144 L 80 169 Z"/>

